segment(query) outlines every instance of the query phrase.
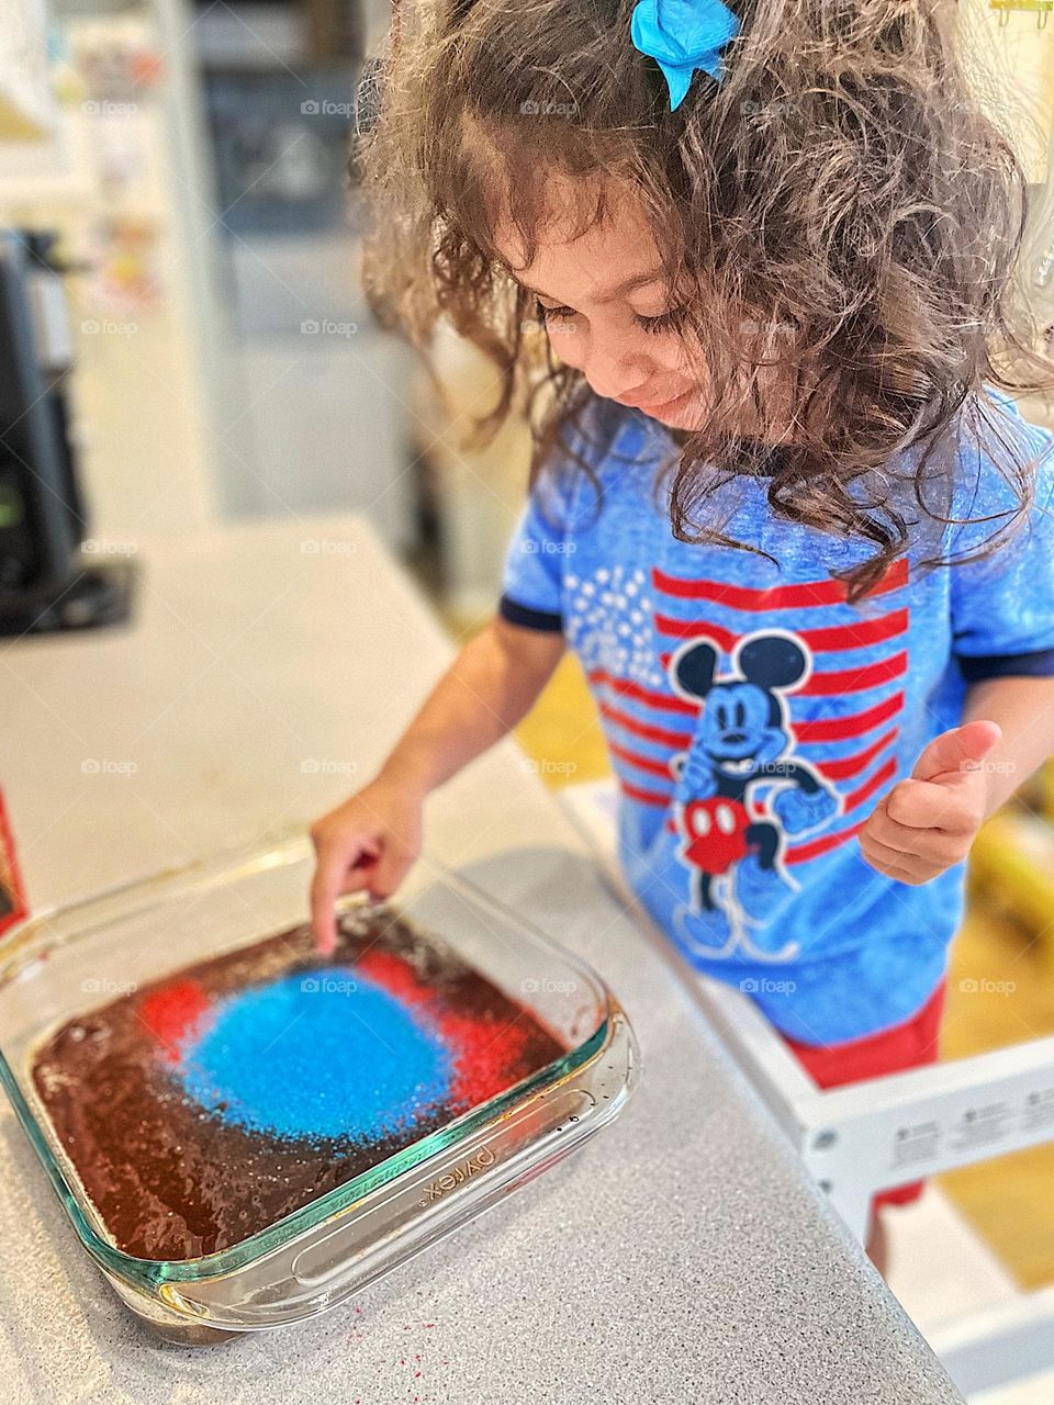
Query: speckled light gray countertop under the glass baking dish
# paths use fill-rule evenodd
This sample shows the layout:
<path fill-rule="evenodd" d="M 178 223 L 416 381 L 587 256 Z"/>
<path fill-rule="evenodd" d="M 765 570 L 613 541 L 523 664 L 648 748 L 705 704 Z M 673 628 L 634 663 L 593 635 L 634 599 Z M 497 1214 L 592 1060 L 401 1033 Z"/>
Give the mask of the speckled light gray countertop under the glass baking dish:
<path fill-rule="evenodd" d="M 354 520 L 141 554 L 134 631 L 6 653 L 3 783 L 38 905 L 320 812 L 448 653 Z M 351 1304 L 194 1349 L 112 1297 L 4 1106 L 0 1401 L 960 1401 L 512 745 L 434 798 L 427 839 L 614 986 L 644 1064 L 623 1116 Z"/>

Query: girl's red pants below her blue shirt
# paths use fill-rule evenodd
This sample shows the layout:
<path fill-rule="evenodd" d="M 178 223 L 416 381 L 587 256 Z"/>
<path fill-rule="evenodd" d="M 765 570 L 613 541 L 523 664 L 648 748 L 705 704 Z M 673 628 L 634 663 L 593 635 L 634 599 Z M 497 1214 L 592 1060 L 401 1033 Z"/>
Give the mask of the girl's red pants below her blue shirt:
<path fill-rule="evenodd" d="M 940 1016 L 944 1009 L 944 982 L 937 986 L 918 1014 L 904 1024 L 894 1024 L 878 1034 L 867 1034 L 861 1040 L 845 1044 L 798 1044 L 783 1035 L 794 1051 L 798 1062 L 812 1076 L 819 1087 L 838 1087 L 840 1083 L 860 1083 L 883 1073 L 899 1073 L 906 1068 L 936 1064 Z M 881 1190 L 873 1200 L 878 1205 L 906 1205 L 922 1194 L 923 1182 L 913 1180 L 908 1186 Z"/>

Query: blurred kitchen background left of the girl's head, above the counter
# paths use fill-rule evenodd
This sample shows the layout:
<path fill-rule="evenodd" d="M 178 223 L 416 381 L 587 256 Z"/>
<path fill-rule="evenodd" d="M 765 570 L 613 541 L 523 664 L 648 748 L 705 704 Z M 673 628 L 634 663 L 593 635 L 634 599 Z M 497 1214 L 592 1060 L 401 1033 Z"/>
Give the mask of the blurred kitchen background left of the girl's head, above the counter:
<path fill-rule="evenodd" d="M 350 507 L 458 615 L 485 608 L 526 441 L 506 438 L 481 495 L 357 275 L 347 135 L 388 0 L 13 14 L 0 223 L 58 235 L 93 538 Z M 447 360 L 478 396 L 479 370 Z"/>

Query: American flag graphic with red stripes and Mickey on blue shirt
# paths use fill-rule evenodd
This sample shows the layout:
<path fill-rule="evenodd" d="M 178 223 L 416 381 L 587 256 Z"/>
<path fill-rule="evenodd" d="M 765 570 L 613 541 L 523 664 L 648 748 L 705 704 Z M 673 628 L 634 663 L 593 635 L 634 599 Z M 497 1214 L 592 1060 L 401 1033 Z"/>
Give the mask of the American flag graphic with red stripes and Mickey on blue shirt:
<path fill-rule="evenodd" d="M 565 584 L 620 788 L 668 812 L 691 910 L 766 920 L 794 867 L 859 833 L 897 776 L 906 559 L 863 606 L 829 576 L 757 589 L 614 566 Z"/>

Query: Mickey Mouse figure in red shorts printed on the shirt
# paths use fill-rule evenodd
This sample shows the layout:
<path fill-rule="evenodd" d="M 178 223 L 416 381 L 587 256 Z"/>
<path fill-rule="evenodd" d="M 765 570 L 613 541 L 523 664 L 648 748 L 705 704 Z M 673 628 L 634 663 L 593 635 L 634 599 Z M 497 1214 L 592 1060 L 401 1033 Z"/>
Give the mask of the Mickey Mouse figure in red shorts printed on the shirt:
<path fill-rule="evenodd" d="M 700 721 L 687 752 L 670 762 L 677 777 L 676 826 L 680 857 L 691 870 L 689 915 L 707 916 L 705 944 L 735 946 L 757 955 L 770 941 L 750 937 L 745 922 L 770 920 L 780 899 L 795 889 L 780 857 L 786 835 L 801 835 L 838 813 L 835 790 L 794 752 L 786 690 L 811 672 L 811 656 L 793 634 L 767 629 L 748 635 L 732 655 L 732 673 L 715 677 L 720 651 L 690 639 L 669 663 L 680 697 L 700 704 Z M 766 816 L 752 818 L 748 801 L 765 790 Z M 770 794 L 769 792 L 774 792 Z M 714 932 L 714 919 L 724 919 Z M 790 953 L 767 951 L 786 957 Z"/>

